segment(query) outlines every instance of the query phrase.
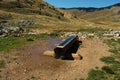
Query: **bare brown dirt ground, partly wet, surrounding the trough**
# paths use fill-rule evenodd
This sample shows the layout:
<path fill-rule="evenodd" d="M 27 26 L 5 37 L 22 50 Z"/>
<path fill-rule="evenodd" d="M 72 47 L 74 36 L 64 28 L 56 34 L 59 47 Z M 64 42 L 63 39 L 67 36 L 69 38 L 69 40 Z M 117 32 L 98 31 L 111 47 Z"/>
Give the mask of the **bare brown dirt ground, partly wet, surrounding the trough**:
<path fill-rule="evenodd" d="M 43 56 L 46 50 L 53 50 L 55 39 L 42 39 L 17 49 L 18 55 L 9 55 L 7 66 L 0 70 L 0 80 L 79 80 L 86 78 L 90 69 L 105 64 L 99 59 L 109 56 L 109 47 L 100 39 L 85 39 L 77 53 L 82 60 L 59 60 Z"/>

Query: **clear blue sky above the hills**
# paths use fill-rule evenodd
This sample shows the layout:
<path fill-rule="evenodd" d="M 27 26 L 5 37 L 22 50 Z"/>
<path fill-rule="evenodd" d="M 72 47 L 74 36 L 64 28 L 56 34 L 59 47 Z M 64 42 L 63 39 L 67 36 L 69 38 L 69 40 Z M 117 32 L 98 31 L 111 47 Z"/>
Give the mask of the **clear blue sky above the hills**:
<path fill-rule="evenodd" d="M 49 4 L 58 8 L 72 8 L 72 7 L 106 7 L 116 3 L 120 0 L 44 0 Z"/>

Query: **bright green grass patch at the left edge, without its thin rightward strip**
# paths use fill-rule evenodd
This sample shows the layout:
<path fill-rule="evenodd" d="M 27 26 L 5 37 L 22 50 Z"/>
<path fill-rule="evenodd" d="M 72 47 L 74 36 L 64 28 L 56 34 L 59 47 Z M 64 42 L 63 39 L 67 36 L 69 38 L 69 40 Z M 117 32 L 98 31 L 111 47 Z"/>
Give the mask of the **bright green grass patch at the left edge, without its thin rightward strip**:
<path fill-rule="evenodd" d="M 0 38 L 0 51 L 9 52 L 11 49 L 30 43 L 20 37 Z"/>

